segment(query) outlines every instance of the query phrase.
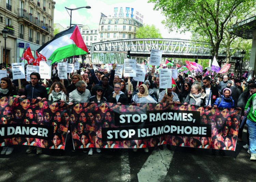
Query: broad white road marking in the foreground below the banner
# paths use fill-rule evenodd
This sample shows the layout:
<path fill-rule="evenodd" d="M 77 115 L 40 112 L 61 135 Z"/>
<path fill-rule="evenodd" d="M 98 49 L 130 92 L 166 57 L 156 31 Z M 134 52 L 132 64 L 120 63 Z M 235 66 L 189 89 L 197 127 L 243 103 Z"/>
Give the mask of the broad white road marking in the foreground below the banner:
<path fill-rule="evenodd" d="M 173 151 L 164 147 L 155 149 L 138 173 L 139 182 L 156 182 L 166 177 L 172 161 Z"/>

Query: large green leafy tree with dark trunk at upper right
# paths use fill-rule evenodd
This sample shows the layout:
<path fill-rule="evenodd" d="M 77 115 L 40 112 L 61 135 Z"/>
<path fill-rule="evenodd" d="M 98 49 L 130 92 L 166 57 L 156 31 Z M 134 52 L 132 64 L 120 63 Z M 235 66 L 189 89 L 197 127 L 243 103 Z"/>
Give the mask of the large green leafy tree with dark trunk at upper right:
<path fill-rule="evenodd" d="M 212 45 L 212 56 L 218 51 L 224 38 L 224 31 L 232 18 L 241 18 L 255 7 L 254 0 L 149 0 L 155 3 L 155 10 L 166 16 L 163 23 L 170 30 L 181 29 L 206 37 Z"/>

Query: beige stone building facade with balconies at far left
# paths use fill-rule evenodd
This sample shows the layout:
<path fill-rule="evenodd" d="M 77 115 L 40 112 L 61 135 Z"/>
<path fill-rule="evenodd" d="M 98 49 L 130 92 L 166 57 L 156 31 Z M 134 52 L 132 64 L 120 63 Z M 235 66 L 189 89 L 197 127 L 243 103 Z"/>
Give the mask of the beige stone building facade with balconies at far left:
<path fill-rule="evenodd" d="M 53 38 L 55 2 L 52 0 L 5 0 L 0 2 L 0 30 L 8 30 L 6 63 L 21 62 L 25 49 L 35 50 Z M 4 60 L 4 39 L 0 36 Z M 4 61 L 1 62 L 4 62 Z M 26 63 L 26 61 L 25 61 Z"/>

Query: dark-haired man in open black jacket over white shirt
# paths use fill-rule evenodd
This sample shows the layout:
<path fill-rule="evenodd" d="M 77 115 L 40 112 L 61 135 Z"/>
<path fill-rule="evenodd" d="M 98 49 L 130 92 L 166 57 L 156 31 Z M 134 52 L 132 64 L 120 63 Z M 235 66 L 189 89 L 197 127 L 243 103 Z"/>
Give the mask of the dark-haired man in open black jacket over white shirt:
<path fill-rule="evenodd" d="M 219 97 L 219 92 L 218 89 L 211 84 L 211 78 L 208 76 L 205 76 L 203 78 L 203 90 L 204 93 L 206 94 L 205 97 L 205 106 L 211 106 L 216 99 Z"/>

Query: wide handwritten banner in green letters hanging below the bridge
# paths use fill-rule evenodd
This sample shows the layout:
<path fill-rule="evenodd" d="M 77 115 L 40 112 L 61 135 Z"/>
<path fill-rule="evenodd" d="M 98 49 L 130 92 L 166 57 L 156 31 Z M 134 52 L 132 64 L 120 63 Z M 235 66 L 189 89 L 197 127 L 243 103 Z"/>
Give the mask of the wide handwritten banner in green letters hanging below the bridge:
<path fill-rule="evenodd" d="M 123 64 L 127 53 L 92 53 L 91 63 L 93 64 Z"/>

